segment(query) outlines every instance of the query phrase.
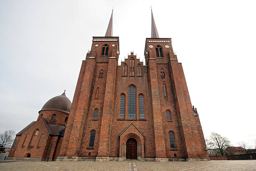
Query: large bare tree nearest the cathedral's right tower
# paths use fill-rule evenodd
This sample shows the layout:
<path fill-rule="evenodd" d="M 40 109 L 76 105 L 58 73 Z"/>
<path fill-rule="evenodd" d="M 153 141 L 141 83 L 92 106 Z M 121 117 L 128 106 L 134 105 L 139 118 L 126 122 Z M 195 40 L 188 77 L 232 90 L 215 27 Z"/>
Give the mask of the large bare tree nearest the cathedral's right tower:
<path fill-rule="evenodd" d="M 230 146 L 230 141 L 228 138 L 221 136 L 218 133 L 212 132 L 210 136 L 210 142 L 213 144 L 213 146 L 217 147 L 220 151 L 221 156 L 224 156 L 225 149 Z"/>

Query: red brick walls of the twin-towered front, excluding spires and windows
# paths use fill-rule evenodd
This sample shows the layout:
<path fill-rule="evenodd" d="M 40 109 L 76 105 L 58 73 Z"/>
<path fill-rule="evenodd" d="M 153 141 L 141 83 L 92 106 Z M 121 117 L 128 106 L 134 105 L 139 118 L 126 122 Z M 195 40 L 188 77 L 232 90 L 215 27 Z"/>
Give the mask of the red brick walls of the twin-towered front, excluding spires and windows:
<path fill-rule="evenodd" d="M 108 55 L 102 55 L 105 45 L 109 48 Z M 157 46 L 162 48 L 163 57 L 156 57 Z M 182 64 L 173 53 L 171 39 L 146 39 L 146 65 L 133 53 L 118 65 L 118 56 L 118 37 L 93 37 L 92 48 L 82 62 L 57 160 L 79 161 L 89 156 L 96 161 L 124 160 L 123 146 L 128 138 L 139 144 L 139 160 L 209 158 L 200 120 L 194 115 Z M 136 94 L 136 118 L 128 117 L 131 85 Z M 120 118 L 122 95 L 124 118 Z M 144 100 L 144 118 L 139 117 L 140 95 Z M 97 119 L 93 119 L 95 109 L 98 109 Z M 171 121 L 167 121 L 166 111 L 170 112 Z M 95 131 L 93 147 L 89 147 L 91 131 Z M 170 147 L 169 132 L 174 134 L 175 148 Z"/>

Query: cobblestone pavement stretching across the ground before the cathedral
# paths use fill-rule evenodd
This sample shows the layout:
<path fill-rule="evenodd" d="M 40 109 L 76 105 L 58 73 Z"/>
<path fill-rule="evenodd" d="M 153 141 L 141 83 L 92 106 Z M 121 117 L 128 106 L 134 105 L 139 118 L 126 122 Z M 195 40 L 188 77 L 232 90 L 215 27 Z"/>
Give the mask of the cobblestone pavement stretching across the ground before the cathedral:
<path fill-rule="evenodd" d="M 93 171 L 256 171 L 256 160 L 195 161 L 195 162 L 59 162 L 59 161 L 18 161 L 1 162 L 0 170 L 5 171 L 46 171 L 46 170 L 93 170 Z"/>

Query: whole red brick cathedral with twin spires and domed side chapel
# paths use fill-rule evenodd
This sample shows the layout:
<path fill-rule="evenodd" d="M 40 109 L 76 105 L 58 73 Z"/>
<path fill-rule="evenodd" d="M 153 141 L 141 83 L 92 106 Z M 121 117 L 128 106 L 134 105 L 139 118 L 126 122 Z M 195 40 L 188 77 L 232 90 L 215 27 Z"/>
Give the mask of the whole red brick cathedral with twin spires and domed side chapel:
<path fill-rule="evenodd" d="M 8 159 L 44 161 L 206 161 L 197 109 L 171 38 L 159 38 L 151 12 L 145 62 L 131 52 L 121 64 L 113 11 L 105 37 L 92 37 L 73 102 L 47 101 L 16 134 Z"/>

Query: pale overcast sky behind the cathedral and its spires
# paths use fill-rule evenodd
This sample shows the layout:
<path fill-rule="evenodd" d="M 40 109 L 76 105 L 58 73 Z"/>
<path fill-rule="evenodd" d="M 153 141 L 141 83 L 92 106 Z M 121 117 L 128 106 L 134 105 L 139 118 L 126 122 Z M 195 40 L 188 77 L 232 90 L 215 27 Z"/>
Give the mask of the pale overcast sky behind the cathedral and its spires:
<path fill-rule="evenodd" d="M 0 0 L 0 132 L 36 121 L 64 89 L 72 101 L 92 36 L 105 35 L 113 6 L 120 59 L 134 51 L 145 61 L 151 5 L 159 37 L 172 38 L 205 136 L 215 131 L 254 147 L 253 0 Z"/>

